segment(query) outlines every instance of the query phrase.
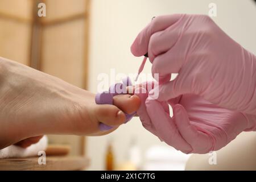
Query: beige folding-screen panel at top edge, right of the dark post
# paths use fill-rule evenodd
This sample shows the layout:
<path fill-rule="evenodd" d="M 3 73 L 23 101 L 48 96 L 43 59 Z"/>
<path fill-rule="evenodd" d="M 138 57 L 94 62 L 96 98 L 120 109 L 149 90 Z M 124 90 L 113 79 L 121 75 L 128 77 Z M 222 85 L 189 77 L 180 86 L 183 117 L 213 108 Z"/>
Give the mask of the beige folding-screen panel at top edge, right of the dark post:
<path fill-rule="evenodd" d="M 43 18 L 43 22 L 83 14 L 86 7 L 85 0 L 45 0 L 44 2 L 46 3 L 47 15 Z"/>

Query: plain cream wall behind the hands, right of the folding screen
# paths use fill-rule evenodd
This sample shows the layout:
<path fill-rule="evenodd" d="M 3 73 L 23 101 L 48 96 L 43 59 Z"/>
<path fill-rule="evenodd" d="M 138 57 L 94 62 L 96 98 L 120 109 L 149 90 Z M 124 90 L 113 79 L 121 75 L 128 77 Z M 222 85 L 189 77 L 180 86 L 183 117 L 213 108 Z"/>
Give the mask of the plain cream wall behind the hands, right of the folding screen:
<path fill-rule="evenodd" d="M 96 92 L 97 75 L 116 72 L 135 73 L 142 58 L 131 55 L 130 45 L 135 36 L 152 16 L 173 13 L 207 14 L 210 2 L 217 4 L 214 21 L 233 39 L 256 53 L 256 5 L 250 0 L 93 0 L 90 19 L 89 90 Z M 150 73 L 147 63 L 144 72 Z M 124 160 L 131 137 L 145 151 L 152 144 L 160 144 L 158 138 L 143 129 L 138 118 L 105 137 L 89 137 L 86 148 L 92 160 L 90 169 L 104 169 L 106 141 L 112 137 L 117 161 Z"/>

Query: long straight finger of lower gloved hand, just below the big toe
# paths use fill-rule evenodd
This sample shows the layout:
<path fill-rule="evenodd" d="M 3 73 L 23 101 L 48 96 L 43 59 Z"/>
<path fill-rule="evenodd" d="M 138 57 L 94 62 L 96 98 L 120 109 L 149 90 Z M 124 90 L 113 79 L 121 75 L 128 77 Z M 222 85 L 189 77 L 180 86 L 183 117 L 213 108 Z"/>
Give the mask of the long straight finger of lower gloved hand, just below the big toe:
<path fill-rule="evenodd" d="M 159 101 L 147 99 L 146 108 L 158 136 L 164 142 L 186 154 L 192 151 L 191 146 L 180 135 L 173 119 L 164 111 Z"/>

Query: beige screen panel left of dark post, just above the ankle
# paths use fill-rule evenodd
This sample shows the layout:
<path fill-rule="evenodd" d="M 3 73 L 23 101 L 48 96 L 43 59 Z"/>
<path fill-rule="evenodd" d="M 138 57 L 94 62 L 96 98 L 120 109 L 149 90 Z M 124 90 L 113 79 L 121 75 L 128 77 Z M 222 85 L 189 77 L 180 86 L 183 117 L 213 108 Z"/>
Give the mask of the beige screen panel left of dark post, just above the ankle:
<path fill-rule="evenodd" d="M 0 16 L 0 56 L 29 65 L 31 25 Z"/>

